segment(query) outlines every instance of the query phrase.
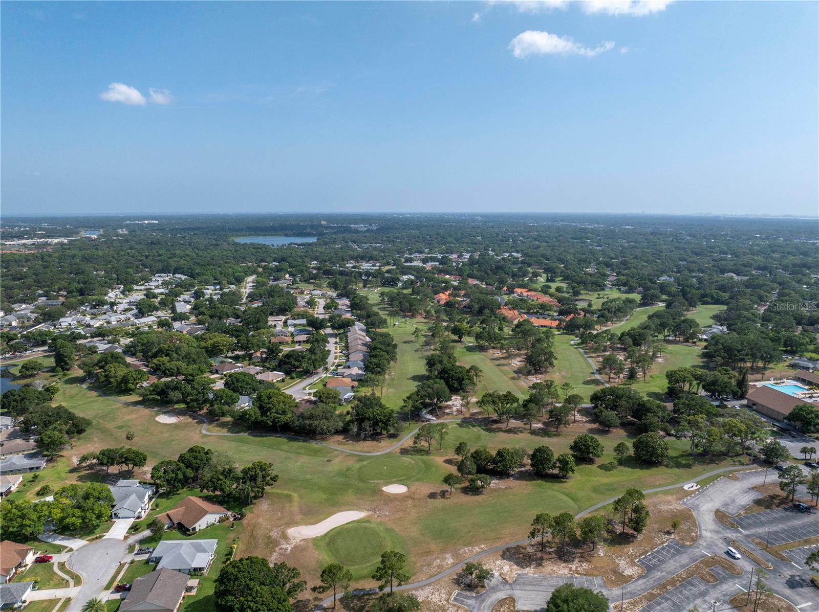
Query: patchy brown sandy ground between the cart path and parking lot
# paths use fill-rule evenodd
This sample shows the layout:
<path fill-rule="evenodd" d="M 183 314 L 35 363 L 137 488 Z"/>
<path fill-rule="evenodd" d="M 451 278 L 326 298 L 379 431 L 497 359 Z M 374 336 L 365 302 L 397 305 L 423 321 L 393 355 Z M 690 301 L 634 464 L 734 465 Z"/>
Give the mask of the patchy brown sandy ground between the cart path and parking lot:
<path fill-rule="evenodd" d="M 536 574 L 582 574 L 600 576 L 606 586 L 619 587 L 630 583 L 645 572 L 636 560 L 675 538 L 686 546 L 697 541 L 697 522 L 694 514 L 680 499 L 687 497 L 688 491 L 653 495 L 646 498 L 651 512 L 651 520 L 645 532 L 632 537 L 628 533 L 617 533 L 609 542 L 592 551 L 587 545 L 578 545 L 569 555 L 561 559 L 554 547 L 544 552 L 540 547 L 519 546 L 487 556 L 484 563 L 495 570 L 507 582 L 513 582 L 522 572 Z M 680 527 L 672 533 L 671 522 L 677 519 Z"/>

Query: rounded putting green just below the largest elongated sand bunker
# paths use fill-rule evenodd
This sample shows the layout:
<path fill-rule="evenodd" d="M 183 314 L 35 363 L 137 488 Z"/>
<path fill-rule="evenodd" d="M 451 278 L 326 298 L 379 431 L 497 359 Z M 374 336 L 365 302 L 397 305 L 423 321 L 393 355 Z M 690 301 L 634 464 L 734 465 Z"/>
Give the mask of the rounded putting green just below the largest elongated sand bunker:
<path fill-rule="evenodd" d="M 407 552 L 404 539 L 394 529 L 369 520 L 331 529 L 316 538 L 314 545 L 324 564 L 340 563 L 351 571 L 354 579 L 369 578 L 383 551 Z"/>

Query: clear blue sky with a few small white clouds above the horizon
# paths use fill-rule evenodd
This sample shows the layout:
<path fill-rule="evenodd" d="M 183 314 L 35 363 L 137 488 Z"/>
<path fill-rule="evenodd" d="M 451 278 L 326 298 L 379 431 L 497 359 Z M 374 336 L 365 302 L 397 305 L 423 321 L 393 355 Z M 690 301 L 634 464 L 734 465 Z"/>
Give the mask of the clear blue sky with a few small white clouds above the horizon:
<path fill-rule="evenodd" d="M 816 2 L 3 2 L 2 212 L 810 214 Z"/>

